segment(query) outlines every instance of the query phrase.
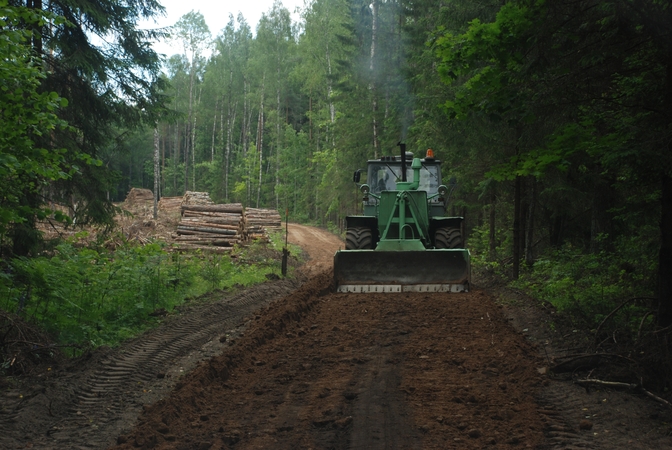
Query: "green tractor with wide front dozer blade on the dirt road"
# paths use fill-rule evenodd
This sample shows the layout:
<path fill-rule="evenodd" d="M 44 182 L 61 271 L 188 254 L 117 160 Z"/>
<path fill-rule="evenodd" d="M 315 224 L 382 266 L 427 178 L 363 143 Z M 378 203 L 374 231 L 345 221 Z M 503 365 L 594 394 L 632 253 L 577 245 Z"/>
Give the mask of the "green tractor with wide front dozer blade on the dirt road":
<path fill-rule="evenodd" d="M 400 156 L 368 161 L 367 184 L 360 186 L 364 214 L 346 217 L 345 250 L 334 256 L 337 289 L 468 291 L 471 263 L 464 248 L 464 219 L 445 216 L 452 190 L 441 184 L 441 162 L 431 150 L 420 159 L 399 146 Z M 355 183 L 360 173 L 355 172 Z"/>

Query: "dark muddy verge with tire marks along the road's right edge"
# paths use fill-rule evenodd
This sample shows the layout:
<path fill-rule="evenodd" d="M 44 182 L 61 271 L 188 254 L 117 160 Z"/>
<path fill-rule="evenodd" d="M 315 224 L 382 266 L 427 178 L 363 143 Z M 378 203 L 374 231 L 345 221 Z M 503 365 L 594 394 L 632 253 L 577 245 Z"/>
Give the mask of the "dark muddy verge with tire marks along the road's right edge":
<path fill-rule="evenodd" d="M 551 326 L 557 318 L 548 308 L 540 308 L 538 300 L 518 292 L 498 289 L 507 320 L 519 333 L 537 346 L 544 365 L 552 366 L 556 358 L 564 358 L 576 340 L 565 341 L 572 328 Z M 672 413 L 662 405 L 634 392 L 582 387 L 573 379 L 585 373 L 545 375 L 537 402 L 544 419 L 545 441 L 540 450 L 628 448 L 648 450 L 672 448 Z"/>

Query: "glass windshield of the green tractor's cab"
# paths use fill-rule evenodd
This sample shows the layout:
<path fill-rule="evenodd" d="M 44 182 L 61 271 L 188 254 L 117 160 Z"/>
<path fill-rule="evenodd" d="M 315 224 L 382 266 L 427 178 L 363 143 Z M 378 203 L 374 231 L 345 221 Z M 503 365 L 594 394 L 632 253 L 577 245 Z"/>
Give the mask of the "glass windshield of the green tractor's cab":
<path fill-rule="evenodd" d="M 401 181 L 401 164 L 397 162 L 376 162 L 369 165 L 368 184 L 371 192 L 394 191 L 397 181 Z M 406 179 L 413 180 L 411 164 L 406 166 Z M 428 195 L 436 194 L 441 181 L 438 164 L 423 163 L 420 169 L 420 186 L 418 190 L 427 191 Z"/>

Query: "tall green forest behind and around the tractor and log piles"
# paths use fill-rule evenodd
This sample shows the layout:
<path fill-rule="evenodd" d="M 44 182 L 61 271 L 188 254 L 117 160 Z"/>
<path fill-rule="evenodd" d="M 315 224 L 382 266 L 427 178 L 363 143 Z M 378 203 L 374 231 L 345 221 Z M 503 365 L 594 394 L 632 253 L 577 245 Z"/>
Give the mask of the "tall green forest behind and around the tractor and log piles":
<path fill-rule="evenodd" d="M 482 273 L 629 342 L 672 325 L 672 2 L 276 0 L 222 30 L 140 29 L 156 0 L 0 8 L 5 268 L 131 187 L 342 232 L 353 171 L 404 142 L 457 181 Z"/>

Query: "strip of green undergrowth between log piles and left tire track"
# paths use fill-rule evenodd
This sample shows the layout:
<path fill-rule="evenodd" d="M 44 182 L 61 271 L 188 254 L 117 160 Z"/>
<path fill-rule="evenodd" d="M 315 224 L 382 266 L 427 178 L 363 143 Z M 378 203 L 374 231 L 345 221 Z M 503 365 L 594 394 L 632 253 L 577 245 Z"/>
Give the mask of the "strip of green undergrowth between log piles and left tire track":
<path fill-rule="evenodd" d="M 281 246 L 254 243 L 231 254 L 186 255 L 169 252 L 163 242 L 125 241 L 108 251 L 82 248 L 73 239 L 48 256 L 8 261 L 0 272 L 0 309 L 71 345 L 75 356 L 115 346 L 189 299 L 279 276 Z"/>

